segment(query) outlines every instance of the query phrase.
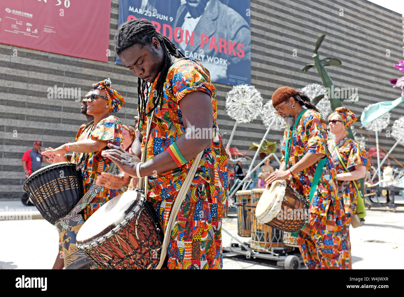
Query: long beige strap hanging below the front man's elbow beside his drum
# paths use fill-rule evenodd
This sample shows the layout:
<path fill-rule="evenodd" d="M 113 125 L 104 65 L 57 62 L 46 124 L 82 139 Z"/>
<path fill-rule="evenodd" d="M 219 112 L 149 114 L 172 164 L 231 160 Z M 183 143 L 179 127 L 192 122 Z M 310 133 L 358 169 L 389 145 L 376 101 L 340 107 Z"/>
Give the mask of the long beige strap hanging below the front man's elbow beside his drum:
<path fill-rule="evenodd" d="M 192 163 L 191 168 L 188 171 L 187 177 L 185 177 L 185 181 L 181 185 L 177 198 L 175 198 L 173 207 L 171 208 L 170 217 L 168 218 L 167 230 L 161 247 L 160 262 L 158 263 L 156 269 L 161 269 L 164 260 L 166 259 L 167 248 L 170 242 L 171 231 L 173 230 L 175 219 L 177 218 L 177 214 L 179 212 L 179 209 L 181 208 L 182 202 L 185 200 L 185 196 L 188 192 L 189 186 L 191 185 L 191 181 L 192 179 L 194 179 L 194 175 L 196 173 L 196 169 L 198 168 L 200 159 L 202 158 L 202 154 L 203 151 L 195 157 L 194 162 Z"/>

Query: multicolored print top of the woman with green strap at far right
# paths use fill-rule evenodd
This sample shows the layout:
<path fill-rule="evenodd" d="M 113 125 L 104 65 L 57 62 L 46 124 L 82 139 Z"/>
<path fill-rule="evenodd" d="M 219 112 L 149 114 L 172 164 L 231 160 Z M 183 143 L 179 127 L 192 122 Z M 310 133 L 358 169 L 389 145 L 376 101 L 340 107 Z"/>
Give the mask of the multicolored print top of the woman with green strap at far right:
<path fill-rule="evenodd" d="M 366 151 L 362 149 L 362 147 L 359 145 L 357 141 L 345 137 L 336 144 L 339 154 L 341 155 L 341 158 L 345 163 L 345 166 L 347 166 L 348 171 L 354 171 L 355 165 L 363 165 L 367 167 L 369 166 Z M 327 145 L 328 150 L 331 153 L 335 169 L 337 170 L 337 174 L 345 173 L 346 171 L 344 167 L 341 165 L 341 162 L 339 162 L 337 153 L 334 150 L 332 140 L 328 140 Z M 359 180 L 356 181 L 356 184 L 358 185 L 358 188 L 360 188 Z M 358 198 L 355 185 L 353 185 L 352 181 L 337 181 L 337 185 L 338 185 L 338 194 L 343 199 L 344 202 L 345 214 L 348 217 L 352 217 L 353 215 L 356 214 L 356 208 L 358 206 L 357 205 Z"/>

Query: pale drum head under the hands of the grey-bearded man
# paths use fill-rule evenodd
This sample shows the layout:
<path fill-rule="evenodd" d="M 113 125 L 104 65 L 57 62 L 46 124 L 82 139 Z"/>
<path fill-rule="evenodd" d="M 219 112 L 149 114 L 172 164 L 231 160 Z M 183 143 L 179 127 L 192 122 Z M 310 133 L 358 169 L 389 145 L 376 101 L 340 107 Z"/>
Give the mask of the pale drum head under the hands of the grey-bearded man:
<path fill-rule="evenodd" d="M 259 198 L 255 216 L 262 223 L 268 223 L 280 212 L 282 201 L 285 196 L 286 181 L 274 181 L 269 188 L 265 190 Z"/>

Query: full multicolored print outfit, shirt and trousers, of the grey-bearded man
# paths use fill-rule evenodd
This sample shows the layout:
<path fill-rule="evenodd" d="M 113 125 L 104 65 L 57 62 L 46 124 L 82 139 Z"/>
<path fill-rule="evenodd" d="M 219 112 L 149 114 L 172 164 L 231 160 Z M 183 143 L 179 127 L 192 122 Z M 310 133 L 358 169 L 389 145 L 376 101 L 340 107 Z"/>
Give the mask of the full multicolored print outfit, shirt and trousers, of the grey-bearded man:
<path fill-rule="evenodd" d="M 292 130 L 292 127 L 288 127 Z M 285 160 L 288 128 L 285 128 L 281 162 Z M 326 155 L 317 190 L 309 206 L 310 236 L 299 232 L 298 242 L 303 261 L 309 269 L 341 269 L 342 222 L 345 218 L 343 203 L 337 194 L 336 171 L 327 149 L 327 126 L 321 114 L 306 110 L 292 135 L 289 167 L 295 165 L 306 153 Z M 318 162 L 295 173 L 287 183 L 307 198 Z"/>

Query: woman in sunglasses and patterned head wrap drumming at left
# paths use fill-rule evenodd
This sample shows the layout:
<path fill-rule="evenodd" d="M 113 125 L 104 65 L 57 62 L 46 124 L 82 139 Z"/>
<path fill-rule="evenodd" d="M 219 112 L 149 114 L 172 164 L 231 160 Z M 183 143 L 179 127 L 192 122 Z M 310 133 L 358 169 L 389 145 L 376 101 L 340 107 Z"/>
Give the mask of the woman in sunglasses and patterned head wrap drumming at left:
<path fill-rule="evenodd" d="M 93 84 L 93 93 L 84 99 L 87 104 L 87 114 L 94 116 L 94 122 L 83 128 L 77 141 L 65 143 L 55 149 L 45 149 L 45 152 L 42 153 L 42 155 L 50 157 L 50 160 L 55 163 L 54 160 L 57 160 L 56 162 L 68 162 L 63 154 L 73 151 L 74 154 L 71 162 L 77 164 L 81 169 L 84 185 L 83 194 L 90 191 L 91 186 L 93 184 L 95 185 L 97 176 L 101 175 L 101 173 L 111 176 L 117 176 L 119 174 L 118 169 L 111 173 L 106 173 L 113 162 L 101 156 L 101 152 L 108 149 L 108 143 L 123 147 L 122 124 L 120 120 L 116 116 L 112 116 L 111 113 L 118 112 L 125 101 L 120 93 L 111 88 L 110 85 L 111 81 L 109 78 Z M 119 187 L 119 183 L 117 183 L 117 189 L 102 187 L 90 204 L 83 210 L 84 221 L 108 200 L 122 194 L 123 189 Z M 59 253 L 61 253 L 60 241 Z M 55 262 L 54 269 L 61 268 L 63 268 L 63 264 L 62 266 L 56 265 Z M 93 266 L 93 268 L 95 268 L 95 266 Z"/>

